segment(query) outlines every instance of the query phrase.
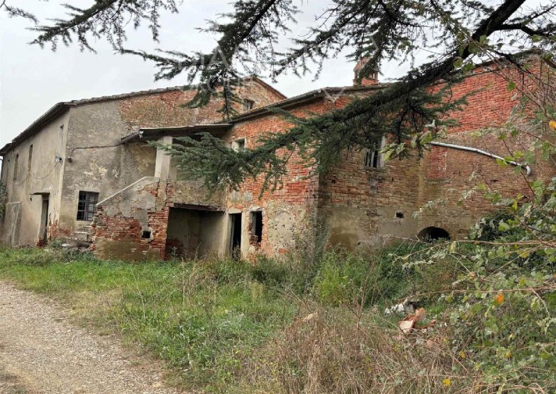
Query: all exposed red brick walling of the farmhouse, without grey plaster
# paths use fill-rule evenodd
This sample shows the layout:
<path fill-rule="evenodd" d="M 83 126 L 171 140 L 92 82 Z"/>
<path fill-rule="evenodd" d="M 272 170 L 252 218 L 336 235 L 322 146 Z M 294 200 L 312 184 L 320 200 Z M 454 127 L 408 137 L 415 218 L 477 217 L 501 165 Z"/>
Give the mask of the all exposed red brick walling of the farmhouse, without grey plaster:
<path fill-rule="evenodd" d="M 521 74 L 508 75 L 516 85 L 525 80 Z M 516 93 L 507 89 L 507 85 L 507 79 L 498 71 L 481 68 L 475 70 L 473 76 L 452 86 L 453 99 L 471 92 L 475 94 L 468 97 L 464 111 L 450 114 L 459 121 L 459 126 L 448 130 L 445 142 L 480 148 L 502 157 L 511 151 L 529 148 L 532 139 L 523 134 L 516 139 L 502 141 L 496 132 L 479 136 L 473 133 L 487 126 L 496 128 L 509 119 L 516 105 Z M 315 96 L 295 103 L 288 110 L 296 115 L 326 112 L 345 105 L 351 94 L 372 94 L 370 89 L 347 89 L 340 99 L 334 101 L 324 94 Z M 149 106 L 152 106 L 154 114 L 149 114 Z M 142 99 L 124 103 L 122 111 L 129 116 L 130 122 L 141 119 L 140 123 L 153 127 L 159 125 L 156 116 L 160 111 L 165 112 L 165 116 L 176 111 L 172 105 L 154 107 L 156 105 Z M 194 117 L 190 114 L 187 118 L 176 114 L 175 122 L 190 124 L 199 119 L 206 121 L 208 118 L 205 116 L 210 110 L 199 110 Z M 252 116 L 240 119 L 224 135 L 224 139 L 230 144 L 245 139 L 246 148 L 256 146 L 261 135 L 285 132 L 292 126 L 284 117 L 272 112 L 254 112 Z M 295 248 L 295 240 L 303 236 L 309 230 L 307 226 L 316 220 L 324 220 L 328 224 L 330 244 L 351 249 L 373 248 L 395 237 L 415 237 L 431 226 L 443 228 L 451 237 L 464 237 L 470 225 L 493 209 L 481 194 L 471 194 L 460 204 L 464 191 L 484 182 L 502 194 L 520 192 L 528 196 L 528 182 L 548 180 L 556 172 L 554 166 L 541 162 L 532 167 L 532 175 L 528 177 L 523 172 L 516 173 L 512 166 L 498 165 L 491 157 L 432 146 L 423 157 L 414 153 L 403 160 L 389 160 L 381 168 L 366 167 L 365 152 L 354 149 L 346 152 L 343 162 L 328 175 L 308 177 L 309 174 L 310 169 L 294 152 L 283 184 L 275 190 L 265 191 L 261 198 L 261 177 L 248 179 L 240 189 L 223 191 L 212 200 L 206 200 L 206 193 L 199 185 L 175 180 L 170 180 L 167 185 L 161 182 L 165 186 L 158 188 L 156 209 L 149 212 L 148 227 L 152 229 L 152 239 L 141 239 L 145 223 L 138 225 L 138 222 L 129 221 L 126 217 L 107 218 L 102 211 L 96 224 L 97 239 L 111 237 L 113 241 L 122 241 L 121 247 L 115 248 L 133 253 L 140 250 L 144 257 L 169 257 L 172 250 L 181 254 L 186 248 L 183 241 L 167 237 L 166 231 L 170 208 L 184 205 L 206 205 L 221 212 L 222 224 L 218 231 L 222 234 L 218 234 L 218 239 L 221 239 L 217 240 L 221 246 L 218 252 L 229 250 L 229 215 L 242 214 L 241 250 L 244 255 L 254 252 L 279 255 L 291 250 Z M 432 201 L 435 201 L 434 209 L 421 209 Z M 420 209 L 422 212 L 415 215 Z M 253 239 L 252 212 L 262 212 L 263 215 L 261 243 Z"/>

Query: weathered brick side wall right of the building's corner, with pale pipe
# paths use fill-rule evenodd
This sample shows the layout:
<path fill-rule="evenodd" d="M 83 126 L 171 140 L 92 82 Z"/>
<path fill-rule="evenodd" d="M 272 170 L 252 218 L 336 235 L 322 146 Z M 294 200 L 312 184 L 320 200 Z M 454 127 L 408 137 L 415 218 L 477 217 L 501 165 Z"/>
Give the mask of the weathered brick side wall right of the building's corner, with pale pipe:
<path fill-rule="evenodd" d="M 530 84 L 514 71 L 505 74 L 518 87 L 523 81 Z M 477 69 L 473 76 L 453 85 L 453 99 L 477 93 L 468 96 L 464 111 L 448 115 L 459 125 L 448 130 L 445 142 L 502 157 L 530 148 L 533 139 L 524 133 L 505 141 L 498 138 L 498 126 L 509 119 L 518 103 L 516 90 L 509 91 L 507 85 L 508 80 L 502 75 L 487 69 Z M 487 126 L 495 132 L 476 133 Z M 474 194 L 460 205 L 464 191 L 484 182 L 505 196 L 530 196 L 528 182 L 556 175 L 554 166 L 542 161 L 532 166 L 532 176 L 525 177 L 525 171 L 516 173 L 513 166 L 501 167 L 491 157 L 439 146 L 430 148 L 423 158 L 390 160 L 384 169 L 366 169 L 363 151 L 345 153 L 345 160 L 321 182 L 320 207 L 329 218 L 330 243 L 348 248 L 372 247 L 382 243 L 388 234 L 414 237 L 429 226 L 444 228 L 452 237 L 464 237 L 477 219 L 496 209 L 482 194 Z M 433 200 L 439 203 L 434 209 L 413 217 L 414 212 Z M 400 214 L 403 218 L 398 217 Z"/>

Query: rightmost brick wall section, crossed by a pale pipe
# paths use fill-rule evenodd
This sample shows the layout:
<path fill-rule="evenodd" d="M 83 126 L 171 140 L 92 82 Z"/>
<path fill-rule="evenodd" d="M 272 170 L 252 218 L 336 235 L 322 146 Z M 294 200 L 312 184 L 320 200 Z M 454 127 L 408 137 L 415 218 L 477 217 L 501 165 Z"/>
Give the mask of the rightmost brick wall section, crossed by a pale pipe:
<path fill-rule="evenodd" d="M 544 69 L 547 70 L 546 65 Z M 530 71 L 539 75 L 540 64 L 530 64 Z M 513 80 L 518 89 L 507 89 L 506 78 Z M 479 68 L 473 76 L 452 86 L 450 92 L 455 100 L 469 92 L 476 93 L 468 96 L 468 105 L 463 111 L 450 114 L 452 119 L 459 121 L 459 125 L 448 130 L 448 137 L 443 142 L 479 148 L 502 157 L 515 151 L 527 151 L 532 147 L 534 138 L 521 132 L 516 137 L 508 134 L 502 141 L 497 131 L 498 126 L 503 126 L 512 116 L 523 83 L 528 85 L 528 89 L 534 87 L 529 77 L 523 78 L 518 71 Z M 492 131 L 476 132 L 487 127 L 492 128 Z M 472 194 L 460 204 L 462 193 L 484 183 L 502 196 L 521 193 L 530 198 L 532 191 L 529 182 L 537 179 L 548 182 L 556 175 L 553 164 L 541 157 L 537 159 L 537 163 L 531 166 L 532 174 L 527 176 L 525 171 L 516 173 L 514 166 L 498 165 L 491 157 L 432 146 L 421 161 L 418 205 L 422 207 L 432 200 L 441 203 L 420 215 L 419 228 L 440 227 L 452 237 L 465 237 L 471 225 L 496 207 L 484 198 L 482 192 Z"/>

